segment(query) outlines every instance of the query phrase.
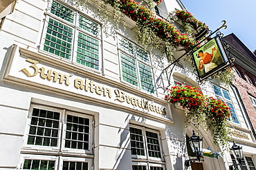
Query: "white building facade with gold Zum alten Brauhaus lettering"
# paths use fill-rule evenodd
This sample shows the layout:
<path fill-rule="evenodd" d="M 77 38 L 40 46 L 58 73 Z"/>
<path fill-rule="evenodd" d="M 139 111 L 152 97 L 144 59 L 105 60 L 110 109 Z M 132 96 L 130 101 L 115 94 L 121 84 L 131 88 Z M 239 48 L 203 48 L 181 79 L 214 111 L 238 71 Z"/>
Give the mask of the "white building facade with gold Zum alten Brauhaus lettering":
<path fill-rule="evenodd" d="M 161 50 L 144 50 L 134 21 L 105 23 L 99 7 L 86 4 L 18 0 L 1 19 L 0 169 L 188 169 L 186 134 L 194 127 L 163 100 L 166 76 L 159 81 L 170 63 Z M 164 15 L 184 7 L 163 1 L 159 8 Z M 229 102 L 232 138 L 255 164 L 255 139 L 235 92 L 217 81 L 197 84 L 190 61 L 179 63 L 171 84 Z M 198 133 L 203 148 L 222 151 L 210 131 Z M 228 169 L 225 153 L 192 169 Z"/>

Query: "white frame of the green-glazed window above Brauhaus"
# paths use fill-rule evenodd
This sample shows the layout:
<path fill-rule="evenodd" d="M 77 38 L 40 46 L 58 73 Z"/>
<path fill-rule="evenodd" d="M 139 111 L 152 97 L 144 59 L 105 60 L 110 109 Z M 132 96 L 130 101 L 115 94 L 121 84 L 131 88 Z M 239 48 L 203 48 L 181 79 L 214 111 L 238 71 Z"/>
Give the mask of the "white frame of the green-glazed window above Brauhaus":
<path fill-rule="evenodd" d="M 147 52 L 146 50 L 144 50 L 145 52 L 147 52 L 147 54 L 148 54 L 148 60 L 149 60 L 149 63 L 146 63 L 145 61 L 143 61 L 143 60 L 141 60 L 141 59 L 139 59 L 138 57 L 135 56 L 136 47 L 138 47 L 138 48 L 140 48 L 140 49 L 142 49 L 142 50 L 143 50 L 143 47 L 140 47 L 139 45 L 137 45 L 136 43 L 134 43 L 134 42 L 131 41 L 130 39 L 127 39 L 126 37 L 123 37 L 123 36 L 121 36 L 120 34 L 118 34 L 117 37 L 118 37 L 118 45 L 117 45 L 117 47 L 118 47 L 119 66 L 120 66 L 120 68 L 119 68 L 119 69 L 120 69 L 120 81 L 121 81 L 122 83 L 127 84 L 127 85 L 131 85 L 132 87 L 134 87 L 134 88 L 136 88 L 136 89 L 142 89 L 143 92 L 146 92 L 146 93 L 149 93 L 149 94 L 156 94 L 156 85 L 155 85 L 155 81 L 154 81 L 154 72 L 153 72 L 152 61 L 151 61 L 151 56 L 150 56 L 149 52 Z M 134 54 L 131 54 L 131 53 L 129 53 L 129 52 L 123 50 L 121 47 L 119 47 L 120 39 L 125 39 L 125 40 L 129 41 L 130 43 L 132 43 Z M 136 74 L 137 74 L 137 80 L 138 80 L 138 86 L 133 85 L 133 84 L 131 84 L 131 83 L 129 83 L 129 82 L 123 80 L 121 52 L 124 53 L 124 54 L 127 55 L 127 56 L 130 56 L 131 59 L 134 59 L 134 60 L 135 60 Z M 154 92 L 153 92 L 153 93 L 152 93 L 152 92 L 148 92 L 147 90 L 145 90 L 145 89 L 143 89 L 143 88 L 141 87 L 140 70 L 139 70 L 139 65 L 138 65 L 138 63 L 142 63 L 143 65 L 146 65 L 147 67 L 150 68 L 151 74 L 152 74 L 152 85 L 154 86 Z"/>

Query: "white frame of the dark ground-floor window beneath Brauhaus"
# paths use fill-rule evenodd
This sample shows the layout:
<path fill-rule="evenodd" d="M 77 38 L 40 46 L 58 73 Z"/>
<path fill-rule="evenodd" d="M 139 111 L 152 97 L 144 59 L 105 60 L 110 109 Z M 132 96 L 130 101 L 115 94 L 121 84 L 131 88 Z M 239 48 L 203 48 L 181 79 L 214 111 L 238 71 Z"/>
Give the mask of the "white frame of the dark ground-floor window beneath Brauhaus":
<path fill-rule="evenodd" d="M 143 134 L 143 146 L 145 149 L 145 156 L 138 156 L 138 155 L 131 155 L 132 159 L 141 159 L 141 160 L 153 160 L 153 161 L 164 161 L 163 158 L 163 147 L 162 147 L 162 141 L 161 141 L 161 134 L 160 131 L 156 131 L 154 129 L 150 129 L 144 126 L 140 126 L 140 125 L 130 125 L 130 127 L 136 128 L 136 129 L 141 129 L 142 130 L 142 134 Z M 155 134 L 158 134 L 158 142 L 159 142 L 159 147 L 160 147 L 160 153 L 161 153 L 161 158 L 155 158 L 155 157 L 149 157 L 149 153 L 148 153 L 148 148 L 147 148 L 147 136 L 146 136 L 146 131 L 149 132 L 153 132 Z M 130 134 L 131 135 L 131 134 Z"/>

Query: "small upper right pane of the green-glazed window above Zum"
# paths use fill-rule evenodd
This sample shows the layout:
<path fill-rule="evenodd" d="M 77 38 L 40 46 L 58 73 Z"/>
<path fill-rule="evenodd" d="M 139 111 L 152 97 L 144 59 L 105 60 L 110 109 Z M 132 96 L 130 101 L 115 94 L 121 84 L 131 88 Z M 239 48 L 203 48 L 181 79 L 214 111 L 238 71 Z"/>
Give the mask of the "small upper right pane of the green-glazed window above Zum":
<path fill-rule="evenodd" d="M 99 26 L 98 26 L 98 23 L 95 23 L 89 19 L 86 19 L 85 17 L 82 17 L 80 15 L 79 17 L 79 27 L 88 31 L 88 32 L 91 32 L 95 35 L 98 36 L 99 34 Z"/>

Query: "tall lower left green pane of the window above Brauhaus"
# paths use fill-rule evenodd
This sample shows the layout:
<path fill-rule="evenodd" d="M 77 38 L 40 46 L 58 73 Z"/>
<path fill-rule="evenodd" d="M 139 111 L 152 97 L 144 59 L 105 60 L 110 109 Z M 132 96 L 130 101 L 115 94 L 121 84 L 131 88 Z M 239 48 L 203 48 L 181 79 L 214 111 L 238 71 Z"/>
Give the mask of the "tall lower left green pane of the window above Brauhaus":
<path fill-rule="evenodd" d="M 138 86 L 135 59 L 132 59 L 130 56 L 127 56 L 122 52 L 120 54 L 122 64 L 122 79 L 128 83 L 131 83 L 132 85 Z"/>

